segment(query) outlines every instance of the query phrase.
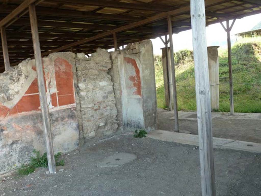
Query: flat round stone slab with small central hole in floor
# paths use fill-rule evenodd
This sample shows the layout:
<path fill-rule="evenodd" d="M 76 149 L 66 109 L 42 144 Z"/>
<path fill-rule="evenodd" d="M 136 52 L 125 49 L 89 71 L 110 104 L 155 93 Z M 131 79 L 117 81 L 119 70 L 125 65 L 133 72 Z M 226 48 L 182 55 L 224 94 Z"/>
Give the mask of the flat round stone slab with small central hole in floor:
<path fill-rule="evenodd" d="M 98 165 L 100 167 L 118 167 L 125 163 L 131 162 L 136 159 L 137 156 L 130 153 L 117 153 L 115 155 L 111 155 L 104 159 L 104 161 L 100 162 Z"/>

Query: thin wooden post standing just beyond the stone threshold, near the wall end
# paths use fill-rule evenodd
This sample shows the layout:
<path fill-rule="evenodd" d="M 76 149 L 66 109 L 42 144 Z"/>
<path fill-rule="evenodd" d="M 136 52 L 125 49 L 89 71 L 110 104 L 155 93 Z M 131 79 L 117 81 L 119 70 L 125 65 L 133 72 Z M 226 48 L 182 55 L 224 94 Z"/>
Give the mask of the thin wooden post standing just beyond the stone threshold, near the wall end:
<path fill-rule="evenodd" d="M 172 88 L 173 88 L 173 101 L 174 101 L 174 117 L 175 117 L 175 131 L 179 132 L 179 115 L 178 115 L 178 104 L 177 104 L 177 86 L 176 86 L 176 73 L 174 64 L 174 49 L 172 39 L 172 23 L 171 16 L 168 15 L 168 28 L 169 28 L 169 46 L 170 46 L 170 66 L 172 73 Z"/>

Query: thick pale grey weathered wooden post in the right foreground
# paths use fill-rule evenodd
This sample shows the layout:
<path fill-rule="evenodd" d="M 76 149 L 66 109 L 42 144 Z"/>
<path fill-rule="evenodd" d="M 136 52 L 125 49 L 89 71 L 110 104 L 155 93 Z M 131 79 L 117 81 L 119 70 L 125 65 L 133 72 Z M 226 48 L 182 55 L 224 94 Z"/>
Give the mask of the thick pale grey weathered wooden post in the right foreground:
<path fill-rule="evenodd" d="M 204 0 L 191 0 L 191 25 L 195 62 L 195 90 L 199 135 L 202 196 L 215 196 L 209 69 Z"/>

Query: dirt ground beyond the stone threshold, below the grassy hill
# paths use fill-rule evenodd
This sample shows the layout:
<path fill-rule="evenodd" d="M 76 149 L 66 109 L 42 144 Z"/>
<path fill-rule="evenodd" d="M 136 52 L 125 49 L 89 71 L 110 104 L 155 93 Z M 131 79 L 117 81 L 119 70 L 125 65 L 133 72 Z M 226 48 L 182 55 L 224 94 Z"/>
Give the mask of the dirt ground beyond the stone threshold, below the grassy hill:
<path fill-rule="evenodd" d="M 179 112 L 179 128 L 198 134 L 195 112 Z M 184 117 L 190 117 L 188 118 Z M 213 137 L 261 143 L 260 114 L 242 114 L 228 116 L 221 112 L 212 113 Z M 157 129 L 174 131 L 174 112 L 158 109 Z"/>

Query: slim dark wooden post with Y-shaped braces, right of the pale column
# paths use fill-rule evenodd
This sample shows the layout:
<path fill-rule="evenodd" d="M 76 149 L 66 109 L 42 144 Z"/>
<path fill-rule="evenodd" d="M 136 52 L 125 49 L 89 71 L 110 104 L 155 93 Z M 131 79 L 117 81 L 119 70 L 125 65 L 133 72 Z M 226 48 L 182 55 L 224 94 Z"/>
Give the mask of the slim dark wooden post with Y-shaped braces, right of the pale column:
<path fill-rule="evenodd" d="M 234 98 L 233 98 L 232 55 L 231 55 L 231 39 L 230 39 L 231 28 L 229 27 L 229 20 L 227 20 L 230 114 L 233 115 L 234 114 Z"/>

